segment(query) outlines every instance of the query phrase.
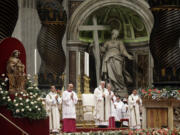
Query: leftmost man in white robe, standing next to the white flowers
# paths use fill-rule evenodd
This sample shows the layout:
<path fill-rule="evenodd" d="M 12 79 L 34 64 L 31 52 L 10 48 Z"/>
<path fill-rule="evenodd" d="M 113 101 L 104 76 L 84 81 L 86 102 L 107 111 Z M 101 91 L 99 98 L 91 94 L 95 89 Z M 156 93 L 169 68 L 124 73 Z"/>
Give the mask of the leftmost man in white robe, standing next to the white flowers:
<path fill-rule="evenodd" d="M 49 115 L 49 127 L 50 132 L 59 132 L 60 130 L 60 113 L 59 105 L 61 104 L 61 98 L 56 92 L 54 85 L 51 86 L 51 91 L 46 96 L 46 110 Z"/>

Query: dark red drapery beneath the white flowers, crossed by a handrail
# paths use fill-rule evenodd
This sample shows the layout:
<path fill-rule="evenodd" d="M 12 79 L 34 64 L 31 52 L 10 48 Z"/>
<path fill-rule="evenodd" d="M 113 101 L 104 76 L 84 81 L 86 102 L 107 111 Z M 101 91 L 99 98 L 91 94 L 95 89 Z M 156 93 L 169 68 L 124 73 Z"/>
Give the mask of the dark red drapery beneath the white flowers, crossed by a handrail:
<path fill-rule="evenodd" d="M 14 118 L 11 111 L 5 107 L 0 107 L 0 113 L 5 115 L 12 122 L 26 131 L 29 135 L 49 135 L 49 119 L 45 120 L 29 120 L 26 118 Z M 22 135 L 22 133 L 14 128 L 10 123 L 0 117 L 0 134 L 1 135 Z"/>

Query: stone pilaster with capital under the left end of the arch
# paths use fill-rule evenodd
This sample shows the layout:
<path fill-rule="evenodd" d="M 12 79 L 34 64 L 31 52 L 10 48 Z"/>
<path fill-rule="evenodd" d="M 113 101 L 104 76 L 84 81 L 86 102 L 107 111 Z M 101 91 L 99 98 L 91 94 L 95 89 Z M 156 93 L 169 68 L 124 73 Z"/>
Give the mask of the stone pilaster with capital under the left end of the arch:
<path fill-rule="evenodd" d="M 84 52 L 87 49 L 87 44 L 81 41 L 68 41 L 67 45 L 67 84 L 68 82 L 73 83 L 77 90 L 79 80 L 80 89 L 83 92 Z"/>

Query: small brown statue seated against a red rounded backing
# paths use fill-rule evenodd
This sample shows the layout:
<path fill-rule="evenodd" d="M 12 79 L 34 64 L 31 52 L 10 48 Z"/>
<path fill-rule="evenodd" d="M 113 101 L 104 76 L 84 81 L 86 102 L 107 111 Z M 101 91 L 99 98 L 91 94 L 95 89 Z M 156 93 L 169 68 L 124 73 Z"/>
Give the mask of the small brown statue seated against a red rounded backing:
<path fill-rule="evenodd" d="M 20 52 L 14 50 L 7 62 L 7 76 L 9 78 L 9 91 L 11 93 L 22 91 L 25 87 L 25 66 L 19 59 Z"/>

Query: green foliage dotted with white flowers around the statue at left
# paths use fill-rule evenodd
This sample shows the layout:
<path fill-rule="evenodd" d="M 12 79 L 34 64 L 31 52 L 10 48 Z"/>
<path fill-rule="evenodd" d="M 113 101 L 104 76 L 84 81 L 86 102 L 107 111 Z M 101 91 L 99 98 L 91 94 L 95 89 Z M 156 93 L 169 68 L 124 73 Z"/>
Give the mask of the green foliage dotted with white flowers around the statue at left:
<path fill-rule="evenodd" d="M 15 93 L 14 100 L 11 100 L 8 92 L 8 78 L 1 75 L 0 79 L 0 106 L 7 106 L 16 118 L 29 118 L 32 120 L 45 119 L 47 117 L 42 100 L 41 92 L 32 83 L 30 75 L 27 77 L 26 91 Z"/>

